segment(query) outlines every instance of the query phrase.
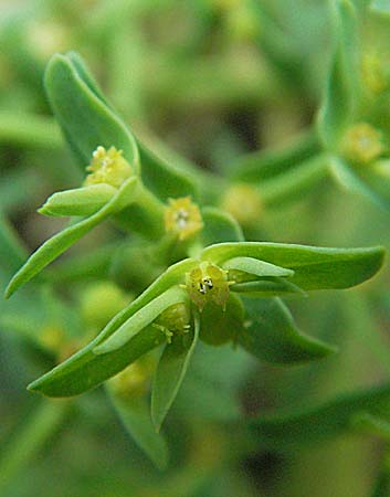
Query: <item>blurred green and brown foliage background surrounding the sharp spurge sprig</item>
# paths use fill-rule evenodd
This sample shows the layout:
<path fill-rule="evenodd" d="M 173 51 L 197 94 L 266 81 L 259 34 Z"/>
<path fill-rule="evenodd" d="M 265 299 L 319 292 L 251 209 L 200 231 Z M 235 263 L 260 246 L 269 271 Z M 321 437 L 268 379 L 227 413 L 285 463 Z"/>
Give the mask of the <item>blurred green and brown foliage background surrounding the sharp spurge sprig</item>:
<path fill-rule="evenodd" d="M 363 12 L 368 2 L 355 3 Z M 126 123 L 161 157 L 232 177 L 243 155 L 280 149 L 313 129 L 333 47 L 328 7 L 324 0 L 1 1 L 2 236 L 30 253 L 63 225 L 36 209 L 82 179 L 45 98 L 43 73 L 53 53 L 80 52 Z M 362 43 L 388 45 L 388 20 L 363 18 L 361 24 Z M 389 214 L 329 178 L 288 203 L 264 205 L 246 234 L 390 246 Z M 87 253 L 112 235 L 102 226 L 71 252 Z M 0 256 L 4 286 L 18 264 L 6 243 Z M 53 329 L 101 326 L 92 322 L 94 298 L 113 292 L 107 282 L 81 288 L 60 276 L 57 283 L 68 294 L 62 305 L 48 290 L 22 292 L 0 306 L 1 496 L 373 495 L 387 450 L 379 438 L 348 434 L 272 451 L 239 436 L 229 422 L 384 381 L 388 268 L 356 289 L 288 300 L 302 329 L 339 346 L 320 363 L 276 369 L 231 346 L 200 347 L 167 421 L 171 463 L 162 473 L 127 435 L 101 389 L 70 402 L 25 391 L 55 361 Z M 125 302 L 131 288 L 116 290 Z M 103 311 L 103 324 L 114 307 Z"/>

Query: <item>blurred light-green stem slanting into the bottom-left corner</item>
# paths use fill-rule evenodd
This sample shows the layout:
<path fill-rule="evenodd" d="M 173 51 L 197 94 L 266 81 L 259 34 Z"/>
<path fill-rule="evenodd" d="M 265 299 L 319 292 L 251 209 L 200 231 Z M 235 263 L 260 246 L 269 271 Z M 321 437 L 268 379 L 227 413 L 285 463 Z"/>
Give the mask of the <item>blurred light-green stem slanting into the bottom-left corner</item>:
<path fill-rule="evenodd" d="M 12 479 L 60 427 L 68 408 L 68 401 L 43 401 L 21 431 L 12 437 L 0 459 L 0 495 L 7 495 L 4 491 Z"/>

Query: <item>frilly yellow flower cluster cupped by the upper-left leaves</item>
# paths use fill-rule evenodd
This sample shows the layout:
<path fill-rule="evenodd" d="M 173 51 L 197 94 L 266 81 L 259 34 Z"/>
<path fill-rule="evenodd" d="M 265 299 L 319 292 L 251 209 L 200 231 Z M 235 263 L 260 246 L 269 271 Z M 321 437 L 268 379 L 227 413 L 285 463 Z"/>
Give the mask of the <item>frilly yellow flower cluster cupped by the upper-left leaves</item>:
<path fill-rule="evenodd" d="M 124 181 L 133 176 L 133 168 L 123 157 L 123 151 L 110 147 L 106 150 L 98 146 L 92 155 L 91 165 L 86 168 L 91 173 L 85 178 L 84 186 L 107 183 L 120 188 Z"/>

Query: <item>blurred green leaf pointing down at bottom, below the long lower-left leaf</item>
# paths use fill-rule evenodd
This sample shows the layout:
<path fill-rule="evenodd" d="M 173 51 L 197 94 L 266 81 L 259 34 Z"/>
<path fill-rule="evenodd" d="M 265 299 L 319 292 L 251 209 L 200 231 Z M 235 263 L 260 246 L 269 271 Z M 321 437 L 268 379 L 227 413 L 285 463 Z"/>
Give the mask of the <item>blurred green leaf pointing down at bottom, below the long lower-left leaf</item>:
<path fill-rule="evenodd" d="M 123 425 L 134 438 L 136 444 L 154 462 L 159 469 L 168 465 L 168 447 L 165 438 L 156 432 L 151 420 L 149 406 L 143 398 L 124 399 L 107 388 L 109 400 Z"/>

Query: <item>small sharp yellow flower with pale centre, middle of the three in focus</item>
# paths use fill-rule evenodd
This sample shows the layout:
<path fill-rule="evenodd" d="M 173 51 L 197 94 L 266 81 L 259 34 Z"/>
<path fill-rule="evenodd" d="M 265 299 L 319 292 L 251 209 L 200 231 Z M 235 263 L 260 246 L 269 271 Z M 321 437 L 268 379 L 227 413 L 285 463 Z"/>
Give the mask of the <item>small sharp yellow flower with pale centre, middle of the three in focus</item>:
<path fill-rule="evenodd" d="M 200 210 L 191 202 L 190 197 L 169 199 L 169 205 L 165 210 L 165 224 L 166 231 L 178 234 L 181 242 L 203 228 Z"/>

